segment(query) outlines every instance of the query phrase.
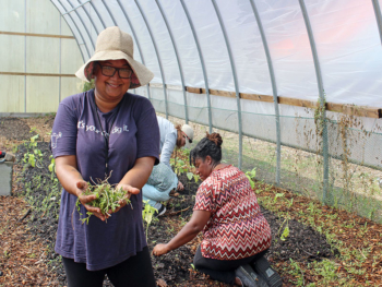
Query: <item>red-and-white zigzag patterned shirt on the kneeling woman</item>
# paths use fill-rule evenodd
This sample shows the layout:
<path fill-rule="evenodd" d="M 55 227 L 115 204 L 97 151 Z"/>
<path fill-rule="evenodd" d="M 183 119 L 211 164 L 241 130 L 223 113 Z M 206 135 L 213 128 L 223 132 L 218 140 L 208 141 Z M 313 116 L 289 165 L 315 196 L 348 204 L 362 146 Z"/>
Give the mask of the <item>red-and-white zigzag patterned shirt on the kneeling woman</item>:
<path fill-rule="evenodd" d="M 234 166 L 214 170 L 199 187 L 194 211 L 208 211 L 204 258 L 238 260 L 271 247 L 271 228 L 246 175 Z"/>

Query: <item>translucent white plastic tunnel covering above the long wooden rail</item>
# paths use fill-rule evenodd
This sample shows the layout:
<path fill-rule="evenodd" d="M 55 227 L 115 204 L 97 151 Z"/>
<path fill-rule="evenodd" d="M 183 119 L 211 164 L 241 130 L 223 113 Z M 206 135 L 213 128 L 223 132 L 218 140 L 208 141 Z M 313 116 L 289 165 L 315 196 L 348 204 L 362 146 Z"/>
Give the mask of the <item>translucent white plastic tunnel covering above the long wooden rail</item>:
<path fill-rule="evenodd" d="M 51 2 L 72 28 L 84 61 L 93 55 L 96 37 L 104 28 L 118 25 L 132 34 L 134 57 L 154 72 L 152 83 L 181 86 L 182 73 L 186 86 L 205 87 L 207 84 L 220 91 L 238 88 L 240 93 L 273 95 L 271 63 L 278 96 L 318 100 L 319 70 L 326 101 L 382 106 L 382 49 L 378 25 L 381 0 Z M 302 5 L 313 43 L 309 39 Z M 271 62 L 254 11 L 259 14 Z M 317 50 L 317 65 L 312 49 Z M 218 100 L 222 108 L 231 109 L 236 105 L 231 98 L 212 97 L 212 106 L 214 100 Z M 248 105 L 242 107 L 244 111 Z M 270 103 L 262 103 L 260 108 L 258 103 L 256 109 L 258 112 L 274 112 Z"/>

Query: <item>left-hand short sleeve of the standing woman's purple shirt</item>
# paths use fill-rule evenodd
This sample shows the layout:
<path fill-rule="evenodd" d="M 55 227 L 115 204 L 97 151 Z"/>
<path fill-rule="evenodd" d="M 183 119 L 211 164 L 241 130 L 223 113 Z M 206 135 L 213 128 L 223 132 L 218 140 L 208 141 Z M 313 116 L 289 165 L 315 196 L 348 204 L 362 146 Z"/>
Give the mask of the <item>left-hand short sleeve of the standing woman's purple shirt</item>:
<path fill-rule="evenodd" d="M 77 136 L 77 117 L 71 107 L 70 98 L 64 99 L 58 107 L 51 135 L 50 148 L 53 157 L 75 155 Z"/>

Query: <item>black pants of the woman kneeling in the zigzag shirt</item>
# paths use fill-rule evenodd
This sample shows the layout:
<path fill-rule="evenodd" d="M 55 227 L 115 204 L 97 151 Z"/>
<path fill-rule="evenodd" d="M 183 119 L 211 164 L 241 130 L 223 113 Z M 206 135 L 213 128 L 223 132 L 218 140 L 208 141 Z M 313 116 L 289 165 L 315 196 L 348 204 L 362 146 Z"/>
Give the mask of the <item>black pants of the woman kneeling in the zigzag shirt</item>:
<path fill-rule="evenodd" d="M 234 285 L 236 277 L 235 270 L 241 265 L 252 263 L 258 258 L 263 256 L 266 251 L 267 250 L 246 259 L 217 260 L 203 258 L 201 247 L 199 246 L 195 256 L 193 258 L 193 265 L 198 271 L 210 275 L 210 277 L 214 280 Z"/>

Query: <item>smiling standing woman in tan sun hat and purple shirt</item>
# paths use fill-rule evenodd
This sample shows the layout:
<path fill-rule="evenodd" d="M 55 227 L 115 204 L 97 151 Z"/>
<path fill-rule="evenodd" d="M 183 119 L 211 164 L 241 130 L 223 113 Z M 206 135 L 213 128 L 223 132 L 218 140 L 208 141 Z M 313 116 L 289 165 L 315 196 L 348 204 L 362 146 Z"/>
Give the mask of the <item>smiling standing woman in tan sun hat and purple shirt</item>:
<path fill-rule="evenodd" d="M 146 85 L 153 73 L 134 60 L 131 36 L 109 27 L 75 74 L 94 79 L 95 88 L 60 103 L 51 135 L 63 187 L 55 250 L 62 256 L 68 285 L 102 287 L 107 275 L 114 286 L 155 286 L 141 189 L 159 160 L 159 130 L 150 100 L 128 93 Z M 106 177 L 131 201 L 111 216 L 88 205 L 95 195 L 83 194 L 87 182 Z M 81 214 L 87 212 L 95 216 L 82 224 Z"/>

